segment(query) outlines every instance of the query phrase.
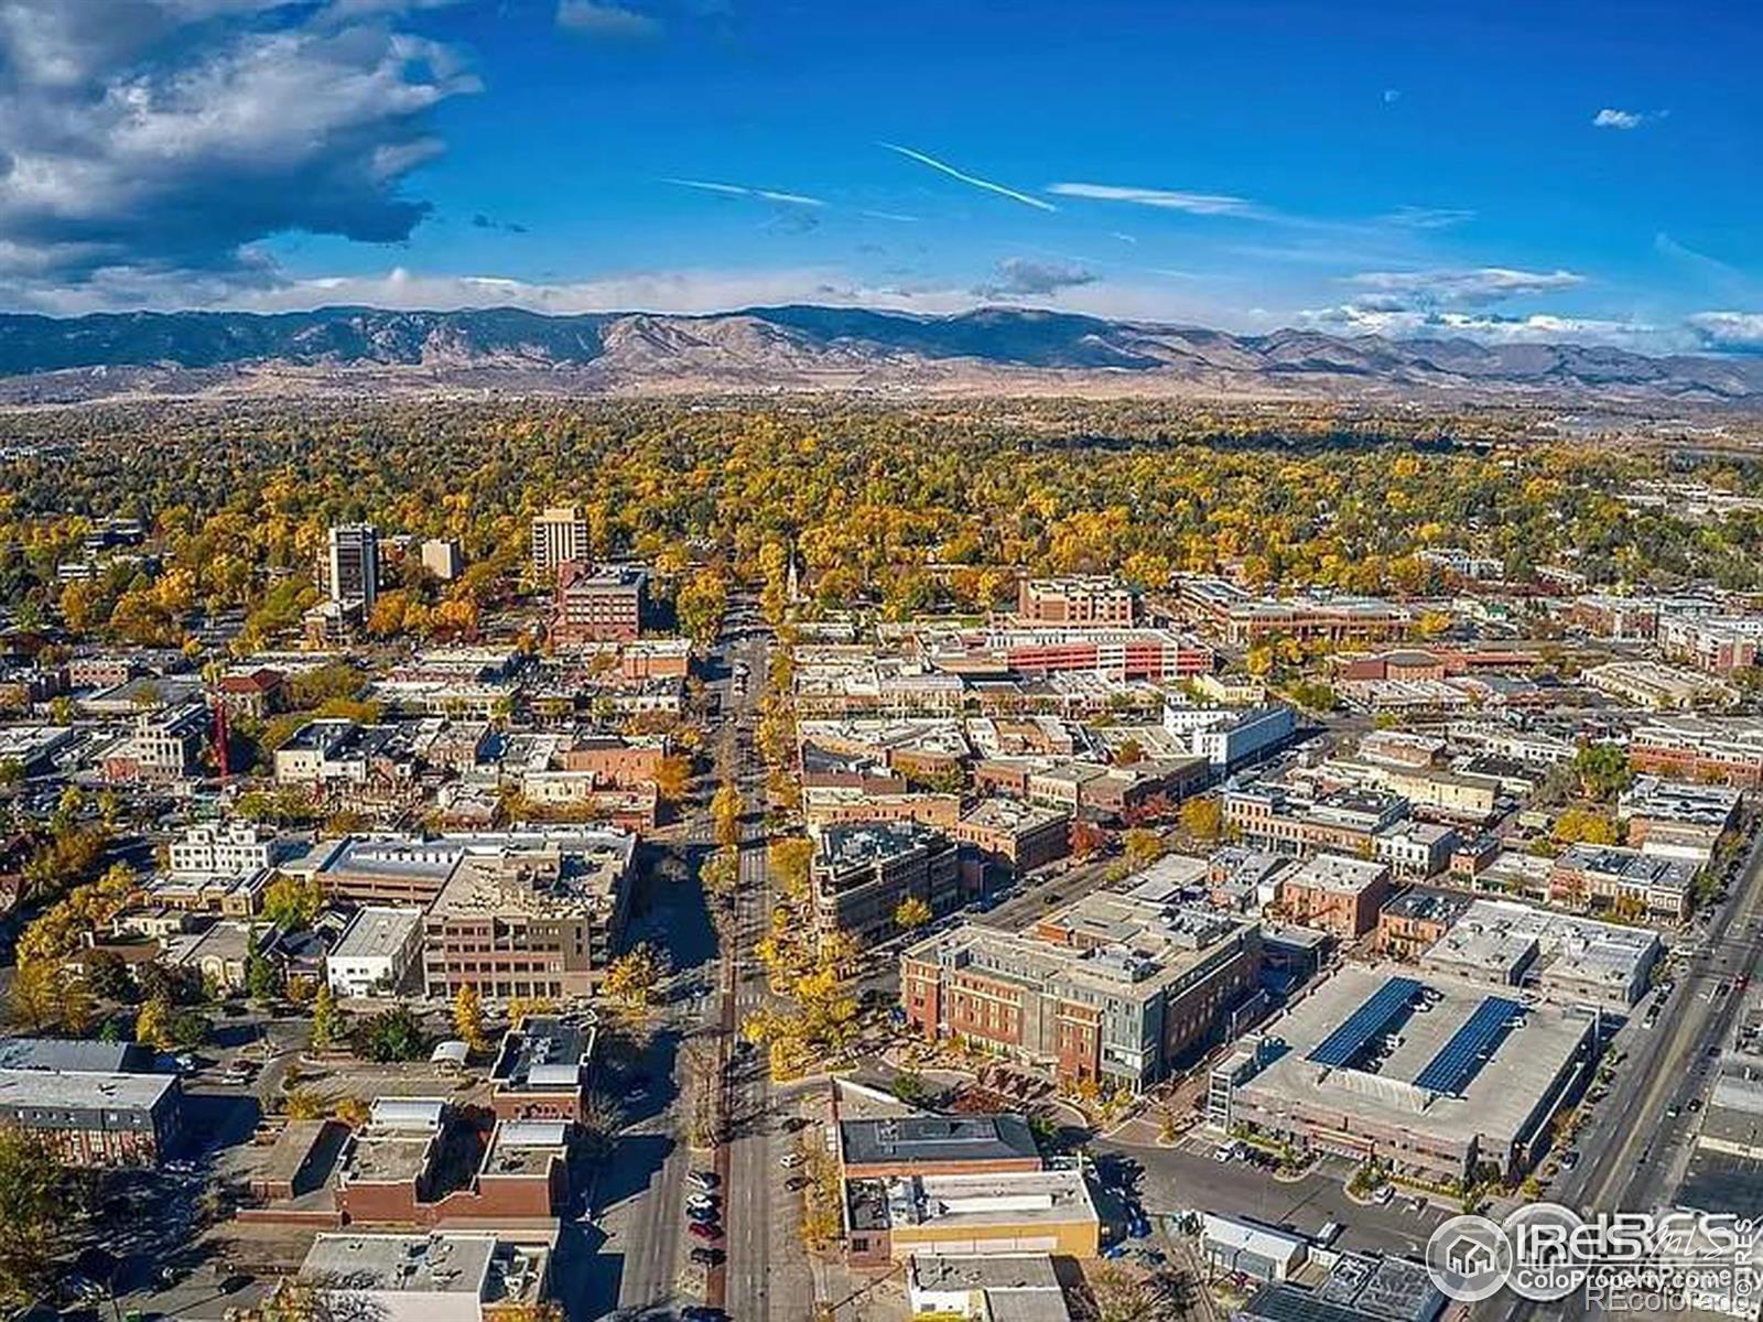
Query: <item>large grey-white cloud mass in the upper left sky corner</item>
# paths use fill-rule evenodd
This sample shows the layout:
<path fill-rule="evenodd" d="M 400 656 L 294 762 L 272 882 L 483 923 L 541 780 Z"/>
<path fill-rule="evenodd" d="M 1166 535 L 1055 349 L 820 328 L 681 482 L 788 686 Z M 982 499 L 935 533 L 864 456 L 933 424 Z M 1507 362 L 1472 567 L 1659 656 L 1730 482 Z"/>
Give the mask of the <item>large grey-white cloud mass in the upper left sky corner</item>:
<path fill-rule="evenodd" d="M 245 280 L 270 234 L 407 238 L 428 208 L 400 185 L 443 150 L 432 113 L 480 86 L 388 26 L 418 2 L 0 4 L 0 280 Z"/>

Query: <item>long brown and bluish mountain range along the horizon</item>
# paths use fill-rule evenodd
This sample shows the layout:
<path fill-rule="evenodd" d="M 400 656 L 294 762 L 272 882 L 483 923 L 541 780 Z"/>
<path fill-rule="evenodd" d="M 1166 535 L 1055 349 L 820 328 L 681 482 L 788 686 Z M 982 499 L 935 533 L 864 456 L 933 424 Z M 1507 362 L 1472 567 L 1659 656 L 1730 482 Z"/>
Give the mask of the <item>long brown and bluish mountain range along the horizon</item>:
<path fill-rule="evenodd" d="M 712 316 L 518 308 L 0 314 L 0 402 L 504 390 L 906 391 L 1763 405 L 1763 356 L 1269 335 L 1028 308 Z"/>

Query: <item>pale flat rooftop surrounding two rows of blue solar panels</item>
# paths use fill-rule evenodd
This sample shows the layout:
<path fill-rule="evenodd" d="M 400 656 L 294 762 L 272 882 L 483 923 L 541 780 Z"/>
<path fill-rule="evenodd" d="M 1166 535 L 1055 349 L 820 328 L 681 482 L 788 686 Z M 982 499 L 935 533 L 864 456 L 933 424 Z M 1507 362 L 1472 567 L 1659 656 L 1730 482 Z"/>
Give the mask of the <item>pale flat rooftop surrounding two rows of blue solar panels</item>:
<path fill-rule="evenodd" d="M 1462 1045 L 1460 1029 L 1469 1031 L 1470 1019 L 1497 999 L 1483 985 L 1428 973 L 1425 980 L 1410 978 L 1428 996 L 1409 1001 L 1410 1006 L 1430 1001 L 1428 1008 L 1398 1006 L 1372 1026 L 1372 1049 L 1384 1052 L 1375 1072 L 1358 1068 L 1363 1052 L 1342 1066 L 1310 1059 L 1338 1029 L 1347 1031 L 1361 1006 L 1398 977 L 1391 966 L 1347 964 L 1298 1006 L 1268 1022 L 1264 1035 L 1285 1051 L 1243 1084 L 1245 1095 L 1275 1110 L 1326 1107 L 1446 1140 L 1486 1135 L 1507 1144 L 1525 1132 L 1544 1091 L 1592 1031 L 1590 1015 L 1546 1005 L 1523 1006 L 1513 1015 L 1514 1024 L 1500 1024 L 1500 1031 L 1483 1043 L 1488 1058 L 1476 1061 L 1454 1093 L 1423 1088 L 1416 1081 L 1440 1061 L 1447 1045 Z"/>

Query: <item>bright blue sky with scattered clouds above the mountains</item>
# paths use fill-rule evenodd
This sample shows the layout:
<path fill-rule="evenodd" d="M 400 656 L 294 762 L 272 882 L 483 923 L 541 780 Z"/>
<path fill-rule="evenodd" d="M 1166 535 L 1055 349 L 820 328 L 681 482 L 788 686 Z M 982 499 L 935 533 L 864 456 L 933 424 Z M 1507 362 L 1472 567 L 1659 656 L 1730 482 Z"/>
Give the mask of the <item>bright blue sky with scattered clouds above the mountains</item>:
<path fill-rule="evenodd" d="M 1763 347 L 1763 7 L 11 0 L 0 301 Z"/>

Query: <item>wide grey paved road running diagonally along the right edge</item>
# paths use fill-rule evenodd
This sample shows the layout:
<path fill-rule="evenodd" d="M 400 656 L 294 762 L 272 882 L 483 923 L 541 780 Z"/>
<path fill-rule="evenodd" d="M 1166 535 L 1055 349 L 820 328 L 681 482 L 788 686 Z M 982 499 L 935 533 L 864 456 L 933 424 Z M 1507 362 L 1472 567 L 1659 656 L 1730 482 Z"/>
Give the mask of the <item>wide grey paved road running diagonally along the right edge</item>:
<path fill-rule="evenodd" d="M 1701 952 L 1678 980 L 1654 1028 L 1631 1024 L 1622 1038 L 1631 1059 L 1576 1146 L 1587 1160 L 1558 1177 L 1550 1197 L 1587 1211 L 1652 1211 L 1673 1200 L 1694 1139 L 1698 1112 L 1687 1109 L 1712 1082 L 1715 1056 L 1731 1040 L 1744 994 L 1721 987 L 1749 973 L 1763 955 L 1763 836 L 1752 841 L 1737 895 L 1715 913 Z M 1670 1114 L 1671 1110 L 1678 1114 Z M 1590 1313 L 1581 1297 L 1543 1306 L 1509 1297 L 1490 1299 L 1479 1317 L 1564 1318 Z"/>

